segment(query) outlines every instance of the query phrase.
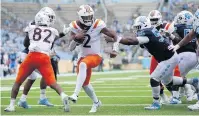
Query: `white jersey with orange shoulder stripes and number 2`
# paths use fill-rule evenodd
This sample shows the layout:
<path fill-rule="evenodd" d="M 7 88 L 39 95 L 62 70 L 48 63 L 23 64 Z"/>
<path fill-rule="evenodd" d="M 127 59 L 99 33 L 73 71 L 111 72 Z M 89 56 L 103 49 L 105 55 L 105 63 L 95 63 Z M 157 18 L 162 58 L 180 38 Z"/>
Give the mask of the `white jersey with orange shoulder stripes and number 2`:
<path fill-rule="evenodd" d="M 69 25 L 73 33 L 78 33 L 83 31 L 76 23 L 73 21 Z M 90 29 L 86 32 L 85 40 L 83 44 L 79 45 L 80 52 L 79 57 L 85 57 L 91 54 L 101 55 L 101 45 L 100 45 L 100 35 L 101 30 L 106 27 L 104 21 L 96 19 Z"/>

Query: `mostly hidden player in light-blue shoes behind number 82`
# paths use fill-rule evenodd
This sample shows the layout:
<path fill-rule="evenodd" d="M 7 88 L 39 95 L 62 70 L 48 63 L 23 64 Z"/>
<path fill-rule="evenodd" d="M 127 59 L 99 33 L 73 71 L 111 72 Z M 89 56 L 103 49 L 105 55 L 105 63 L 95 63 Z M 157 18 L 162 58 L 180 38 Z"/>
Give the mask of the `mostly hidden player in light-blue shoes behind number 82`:
<path fill-rule="evenodd" d="M 55 22 L 55 13 L 54 13 L 54 11 L 51 8 L 44 7 L 39 12 L 46 13 L 50 17 L 51 23 L 54 24 L 54 22 Z M 35 21 L 30 22 L 29 25 L 35 25 Z M 68 31 L 69 31 L 69 28 L 65 27 L 63 32 L 61 32 L 59 34 L 59 38 L 65 36 L 68 33 Z M 22 61 L 26 58 L 26 56 L 27 56 L 27 54 L 29 52 L 28 47 L 29 47 L 30 43 L 27 40 L 29 40 L 29 39 L 25 39 L 24 40 L 25 49 L 21 53 Z M 52 48 L 53 48 L 53 46 L 52 46 Z M 52 62 L 51 62 L 51 64 L 52 64 Z M 52 64 L 52 66 L 53 66 L 53 64 Z M 54 70 L 55 77 L 56 77 L 56 74 L 57 74 L 56 72 L 57 71 Z M 25 109 L 30 108 L 30 106 L 28 105 L 28 103 L 26 101 L 26 98 L 27 98 L 27 94 L 28 94 L 32 84 L 35 82 L 36 78 L 37 78 L 37 70 L 33 71 L 32 74 L 28 77 L 28 80 L 27 80 L 26 84 L 24 85 L 23 94 L 22 94 L 20 100 L 18 101 L 18 106 L 23 107 Z M 50 103 L 48 101 L 47 97 L 46 97 L 46 88 L 47 88 L 47 85 L 46 85 L 44 79 L 41 78 L 41 81 L 40 81 L 40 99 L 38 101 L 38 104 L 46 105 L 46 106 L 53 106 L 53 104 Z"/>

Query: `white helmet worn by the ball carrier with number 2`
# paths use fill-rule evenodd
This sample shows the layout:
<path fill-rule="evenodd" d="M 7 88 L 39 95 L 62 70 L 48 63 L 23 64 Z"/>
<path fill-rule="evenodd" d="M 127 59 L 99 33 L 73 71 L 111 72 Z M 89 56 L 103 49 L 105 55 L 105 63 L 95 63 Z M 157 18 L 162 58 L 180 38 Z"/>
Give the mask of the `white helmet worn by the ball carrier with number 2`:
<path fill-rule="evenodd" d="M 79 20 L 86 26 L 91 26 L 94 20 L 94 11 L 89 5 L 81 5 L 77 11 Z"/>

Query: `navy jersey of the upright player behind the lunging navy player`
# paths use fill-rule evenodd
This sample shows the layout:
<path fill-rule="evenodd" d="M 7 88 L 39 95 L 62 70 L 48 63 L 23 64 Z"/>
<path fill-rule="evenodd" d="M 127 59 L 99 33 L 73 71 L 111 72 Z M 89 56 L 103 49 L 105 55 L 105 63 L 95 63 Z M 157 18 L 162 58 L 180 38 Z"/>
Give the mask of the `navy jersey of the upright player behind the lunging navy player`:
<path fill-rule="evenodd" d="M 174 25 L 175 32 L 183 39 L 192 29 L 192 25 L 184 25 L 184 24 L 178 24 Z M 177 44 L 174 42 L 174 45 Z M 196 37 L 192 39 L 187 45 L 182 46 L 180 49 L 177 50 L 177 53 L 182 52 L 196 52 Z"/>

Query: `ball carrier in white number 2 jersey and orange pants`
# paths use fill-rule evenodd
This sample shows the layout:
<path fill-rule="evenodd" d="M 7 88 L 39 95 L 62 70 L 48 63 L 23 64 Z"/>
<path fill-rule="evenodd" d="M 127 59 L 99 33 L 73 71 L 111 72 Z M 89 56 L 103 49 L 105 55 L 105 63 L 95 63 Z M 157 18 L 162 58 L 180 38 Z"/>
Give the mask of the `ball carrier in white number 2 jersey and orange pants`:
<path fill-rule="evenodd" d="M 101 33 L 114 39 L 114 51 L 117 51 L 119 39 L 116 33 L 109 30 L 106 24 L 101 19 L 94 18 L 94 11 L 89 5 L 81 5 L 77 12 L 79 19 L 70 23 L 71 39 L 73 49 L 77 44 L 80 44 L 79 61 L 77 66 L 77 82 L 74 93 L 69 97 L 73 102 L 77 101 L 79 92 L 83 87 L 86 94 L 92 99 L 93 106 L 90 112 L 96 112 L 97 108 L 101 106 L 101 101 L 97 98 L 90 78 L 92 68 L 97 67 L 102 57 L 100 55 L 100 35 Z M 73 50 L 71 49 L 71 50 Z M 110 54 L 115 57 L 116 54 Z"/>

